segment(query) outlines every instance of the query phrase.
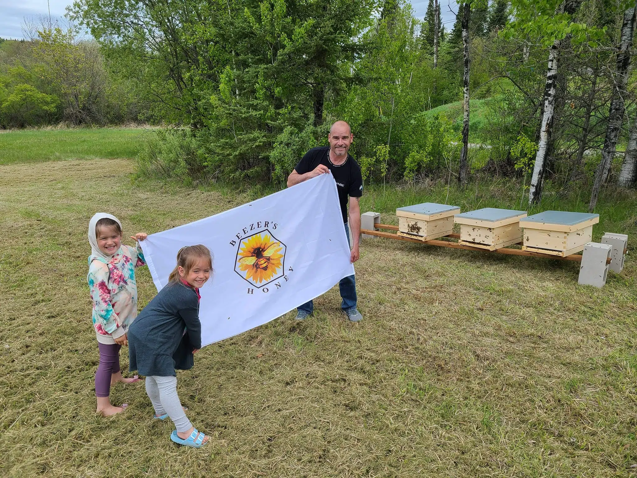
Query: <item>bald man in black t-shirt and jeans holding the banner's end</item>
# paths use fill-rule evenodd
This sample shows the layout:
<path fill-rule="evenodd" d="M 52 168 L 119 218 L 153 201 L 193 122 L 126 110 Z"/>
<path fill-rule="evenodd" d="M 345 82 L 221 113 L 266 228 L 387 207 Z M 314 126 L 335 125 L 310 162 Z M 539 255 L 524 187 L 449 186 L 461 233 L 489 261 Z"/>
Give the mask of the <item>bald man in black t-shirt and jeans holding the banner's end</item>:
<path fill-rule="evenodd" d="M 348 151 L 354 140 L 352 129 L 345 121 L 337 121 L 329 129 L 327 141 L 329 146 L 312 148 L 306 152 L 303 159 L 299 161 L 296 168 L 287 178 L 287 187 L 299 184 L 310 178 L 317 177 L 320 174 L 332 172 L 334 180 L 336 180 L 336 189 L 338 189 L 338 199 L 341 203 L 341 214 L 343 214 L 343 223 L 345 224 L 345 234 L 349 242 L 349 228 L 352 228 L 352 248 L 350 261 L 355 263 L 359 259 L 359 238 L 361 234 L 361 208 L 359 200 L 362 196 L 362 175 L 361 168 L 350 156 Z M 347 202 L 349 196 L 350 212 L 349 224 L 347 222 Z M 350 275 L 341 279 L 338 284 L 341 291 L 341 309 L 352 322 L 362 320 L 361 312 L 356 308 L 356 282 L 354 276 Z M 297 309 L 296 319 L 298 321 L 305 320 L 314 310 L 312 301 L 304 303 Z"/>

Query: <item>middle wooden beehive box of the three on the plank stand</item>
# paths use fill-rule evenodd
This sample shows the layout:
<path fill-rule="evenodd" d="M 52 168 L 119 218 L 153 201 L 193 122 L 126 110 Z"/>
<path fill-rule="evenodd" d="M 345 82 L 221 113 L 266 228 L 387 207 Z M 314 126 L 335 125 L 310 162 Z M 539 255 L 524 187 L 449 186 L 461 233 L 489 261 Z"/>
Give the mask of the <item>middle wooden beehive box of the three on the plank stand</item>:
<path fill-rule="evenodd" d="M 460 224 L 461 244 L 496 250 L 522 242 L 520 219 L 526 212 L 512 209 L 483 208 L 454 217 Z"/>

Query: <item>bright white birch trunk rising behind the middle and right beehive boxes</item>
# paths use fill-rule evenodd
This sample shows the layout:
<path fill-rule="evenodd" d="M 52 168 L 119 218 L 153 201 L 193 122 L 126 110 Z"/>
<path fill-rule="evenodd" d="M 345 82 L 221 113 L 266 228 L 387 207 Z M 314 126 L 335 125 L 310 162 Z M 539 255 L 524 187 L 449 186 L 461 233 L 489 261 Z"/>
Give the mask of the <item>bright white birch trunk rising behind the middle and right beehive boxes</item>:
<path fill-rule="evenodd" d="M 544 88 L 544 113 L 540 126 L 540 141 L 538 153 L 535 156 L 533 176 L 529 186 L 529 205 L 539 203 L 542 197 L 542 180 L 544 178 L 547 161 L 548 142 L 553 127 L 553 113 L 555 111 L 555 89 L 557 87 L 557 61 L 561 40 L 555 40 L 548 52 L 547 84 Z"/>

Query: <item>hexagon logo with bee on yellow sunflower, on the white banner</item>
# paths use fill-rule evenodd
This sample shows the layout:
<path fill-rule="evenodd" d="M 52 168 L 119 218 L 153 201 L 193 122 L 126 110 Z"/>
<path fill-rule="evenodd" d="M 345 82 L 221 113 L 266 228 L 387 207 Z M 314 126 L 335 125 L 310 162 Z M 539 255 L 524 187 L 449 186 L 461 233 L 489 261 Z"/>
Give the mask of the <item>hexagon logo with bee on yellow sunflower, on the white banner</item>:
<path fill-rule="evenodd" d="M 261 287 L 281 275 L 284 257 L 285 244 L 266 229 L 241 241 L 234 270 Z"/>

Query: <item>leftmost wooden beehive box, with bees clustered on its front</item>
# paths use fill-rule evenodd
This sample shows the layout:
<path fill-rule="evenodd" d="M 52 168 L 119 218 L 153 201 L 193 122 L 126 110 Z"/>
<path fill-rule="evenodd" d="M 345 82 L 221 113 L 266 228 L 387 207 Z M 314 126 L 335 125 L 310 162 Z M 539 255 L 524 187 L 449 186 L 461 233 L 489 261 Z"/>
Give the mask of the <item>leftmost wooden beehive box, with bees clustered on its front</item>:
<path fill-rule="evenodd" d="M 446 236 L 454 230 L 454 214 L 459 212 L 459 206 L 436 203 L 397 208 L 397 235 L 423 241 Z"/>

